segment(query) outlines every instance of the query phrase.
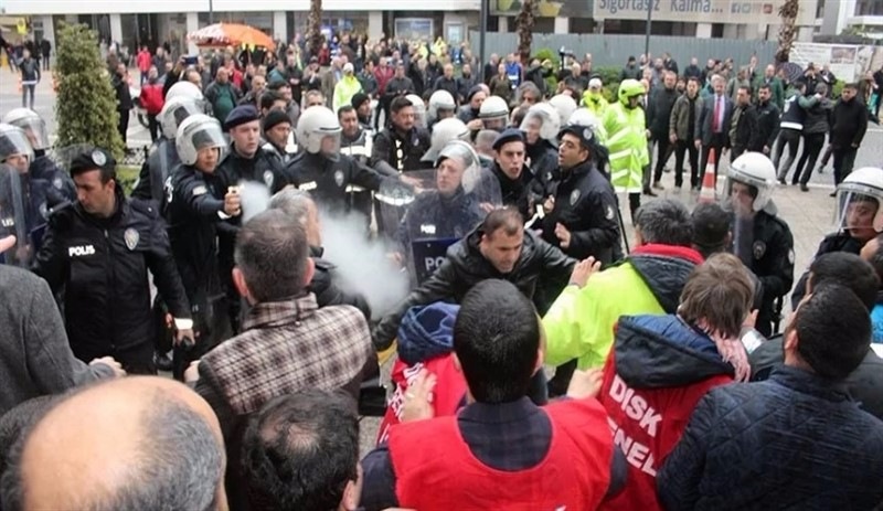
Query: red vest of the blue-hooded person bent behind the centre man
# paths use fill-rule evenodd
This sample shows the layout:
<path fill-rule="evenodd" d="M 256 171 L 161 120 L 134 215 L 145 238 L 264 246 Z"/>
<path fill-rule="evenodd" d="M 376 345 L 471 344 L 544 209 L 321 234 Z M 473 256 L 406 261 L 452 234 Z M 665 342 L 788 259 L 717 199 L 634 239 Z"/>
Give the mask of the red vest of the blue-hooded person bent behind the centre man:
<path fill-rule="evenodd" d="M 406 365 L 401 359 L 393 364 L 392 380 L 395 391 L 386 403 L 386 414 L 377 428 L 377 445 L 383 444 L 390 435 L 390 427 L 398 424 L 402 416 L 402 405 L 405 403 L 405 392 L 411 382 L 417 377 L 422 369 L 435 374 L 436 383 L 433 388 L 433 409 L 436 417 L 454 415 L 466 397 L 466 380 L 462 373 L 454 366 L 450 354 L 436 356 L 426 362 Z"/>

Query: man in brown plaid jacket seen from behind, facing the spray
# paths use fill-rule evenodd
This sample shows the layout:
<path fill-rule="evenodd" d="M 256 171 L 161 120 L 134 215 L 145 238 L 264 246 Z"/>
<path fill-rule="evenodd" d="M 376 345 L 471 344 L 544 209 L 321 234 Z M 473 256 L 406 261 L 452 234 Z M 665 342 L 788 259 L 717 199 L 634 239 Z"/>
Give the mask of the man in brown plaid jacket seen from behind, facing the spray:
<path fill-rule="evenodd" d="M 240 230 L 236 289 L 251 305 L 243 332 L 199 363 L 196 392 L 224 437 L 269 400 L 302 388 L 345 388 L 353 397 L 376 359 L 364 316 L 351 306 L 319 308 L 306 291 L 315 266 L 304 225 L 279 210 Z"/>

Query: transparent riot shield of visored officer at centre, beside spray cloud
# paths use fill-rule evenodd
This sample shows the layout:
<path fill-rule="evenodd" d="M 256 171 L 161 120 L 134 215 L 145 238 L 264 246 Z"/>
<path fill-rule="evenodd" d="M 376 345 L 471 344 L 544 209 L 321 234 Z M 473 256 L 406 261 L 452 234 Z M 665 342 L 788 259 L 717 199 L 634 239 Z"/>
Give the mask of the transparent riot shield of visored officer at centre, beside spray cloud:
<path fill-rule="evenodd" d="M 394 228 L 394 251 L 416 285 L 440 266 L 450 245 L 477 227 L 488 212 L 502 204 L 499 181 L 487 170 L 472 167 L 459 182 L 439 171 L 408 172 L 412 195 L 381 191 L 381 220 Z M 393 226 L 395 224 L 395 226 Z"/>

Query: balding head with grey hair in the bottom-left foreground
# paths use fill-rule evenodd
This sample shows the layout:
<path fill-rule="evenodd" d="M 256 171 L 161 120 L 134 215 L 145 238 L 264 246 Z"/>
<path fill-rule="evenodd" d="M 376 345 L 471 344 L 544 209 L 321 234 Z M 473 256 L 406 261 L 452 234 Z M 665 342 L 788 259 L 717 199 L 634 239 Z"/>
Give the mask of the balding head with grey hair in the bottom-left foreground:
<path fill-rule="evenodd" d="M 129 377 L 72 394 L 14 449 L 3 509 L 226 509 L 224 446 L 187 386 Z"/>

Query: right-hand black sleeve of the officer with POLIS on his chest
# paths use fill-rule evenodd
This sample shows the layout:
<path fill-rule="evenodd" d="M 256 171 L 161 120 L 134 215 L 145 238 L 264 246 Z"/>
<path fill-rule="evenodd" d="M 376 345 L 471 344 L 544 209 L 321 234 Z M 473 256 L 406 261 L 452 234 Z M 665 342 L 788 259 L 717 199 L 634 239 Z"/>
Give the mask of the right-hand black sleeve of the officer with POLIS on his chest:
<path fill-rule="evenodd" d="M 190 319 L 190 304 L 172 257 L 166 222 L 158 214 L 150 221 L 150 252 L 147 254 L 147 266 L 153 275 L 153 283 L 172 316 L 175 319 Z"/>

